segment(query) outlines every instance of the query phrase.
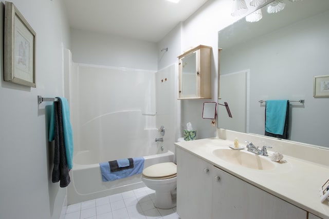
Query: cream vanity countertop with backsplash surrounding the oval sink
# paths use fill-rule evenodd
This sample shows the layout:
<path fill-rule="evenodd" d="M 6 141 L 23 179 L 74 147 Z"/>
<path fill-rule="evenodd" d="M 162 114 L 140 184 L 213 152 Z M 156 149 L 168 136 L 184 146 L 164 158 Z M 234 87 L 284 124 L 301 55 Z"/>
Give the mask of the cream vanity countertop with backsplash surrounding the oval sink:
<path fill-rule="evenodd" d="M 272 146 L 273 148 L 268 149 L 269 156 L 262 156 L 261 158 L 270 161 L 272 152 L 280 152 L 284 155 L 286 163 L 272 162 L 275 167 L 270 170 L 255 170 L 231 164 L 212 153 L 215 149 L 229 149 L 228 146 L 233 145 L 235 137 L 239 138 L 240 145 L 242 146 L 246 146 L 244 141 L 250 141 L 260 148 L 263 145 Z M 292 207 L 297 206 L 297 210 L 304 210 L 308 218 L 312 218 L 310 217 L 311 214 L 321 218 L 329 218 L 329 201 L 321 203 L 319 198 L 319 188 L 329 178 L 327 161 L 329 150 L 224 129 L 218 129 L 218 138 L 179 142 L 175 143 L 175 145 L 177 149 L 201 158 L 200 160 L 203 160 L 206 164 L 213 165 L 239 178 L 244 183 L 246 182 L 260 190 L 268 192 L 272 196 L 278 197 L 281 201 L 283 200 L 291 204 Z M 251 153 L 246 149 L 243 152 Z M 177 179 L 179 179 L 179 158 L 177 154 Z M 202 190 L 204 189 L 202 188 Z M 211 199 L 211 195 L 209 198 Z M 177 213 L 179 214 L 178 205 L 179 190 L 177 181 Z"/>

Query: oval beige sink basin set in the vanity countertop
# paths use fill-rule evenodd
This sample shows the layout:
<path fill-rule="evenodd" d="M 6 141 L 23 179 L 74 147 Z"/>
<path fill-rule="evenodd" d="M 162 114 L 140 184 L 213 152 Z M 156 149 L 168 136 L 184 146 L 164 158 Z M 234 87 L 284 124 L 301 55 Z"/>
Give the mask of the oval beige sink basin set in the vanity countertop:
<path fill-rule="evenodd" d="M 212 153 L 228 163 L 250 169 L 271 170 L 276 167 L 272 161 L 267 160 L 266 157 L 262 157 L 262 155 L 247 153 L 241 150 L 216 149 Z"/>

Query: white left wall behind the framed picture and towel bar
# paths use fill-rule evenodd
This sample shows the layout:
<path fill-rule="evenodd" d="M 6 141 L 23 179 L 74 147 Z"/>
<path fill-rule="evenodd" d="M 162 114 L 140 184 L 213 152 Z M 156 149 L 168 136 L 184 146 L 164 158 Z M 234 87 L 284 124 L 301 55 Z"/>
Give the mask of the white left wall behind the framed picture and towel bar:
<path fill-rule="evenodd" d="M 59 218 L 66 188 L 51 182 L 53 145 L 37 96 L 63 95 L 62 47 L 70 46 L 62 1 L 13 0 L 36 32 L 36 88 L 3 81 L 0 53 L 0 218 Z M 1 1 L 0 41 L 4 3 Z M 0 44 L 1 51 L 3 43 Z"/>

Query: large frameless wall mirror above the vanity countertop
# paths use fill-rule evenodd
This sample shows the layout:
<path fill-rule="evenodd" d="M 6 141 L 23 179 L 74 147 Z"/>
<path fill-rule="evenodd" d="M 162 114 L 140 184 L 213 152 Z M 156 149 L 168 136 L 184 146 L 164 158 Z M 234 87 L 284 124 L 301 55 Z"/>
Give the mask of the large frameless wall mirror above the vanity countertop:
<path fill-rule="evenodd" d="M 267 99 L 289 99 L 288 140 L 329 148 L 329 98 L 313 97 L 313 78 L 329 74 L 329 1 L 285 0 L 254 23 L 218 32 L 218 128 L 264 134 Z M 234 121 L 233 121 L 234 119 Z"/>

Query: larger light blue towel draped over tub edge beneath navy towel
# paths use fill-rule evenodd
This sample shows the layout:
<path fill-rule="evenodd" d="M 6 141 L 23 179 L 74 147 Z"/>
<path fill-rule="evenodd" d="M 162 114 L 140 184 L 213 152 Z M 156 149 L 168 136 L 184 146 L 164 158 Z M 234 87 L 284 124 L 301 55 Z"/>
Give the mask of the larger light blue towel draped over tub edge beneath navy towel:
<path fill-rule="evenodd" d="M 102 174 L 102 181 L 114 181 L 119 180 L 120 178 L 125 178 L 142 173 L 144 168 L 144 157 L 134 157 L 133 161 L 134 168 L 124 169 L 116 172 L 111 172 L 111 170 L 109 169 L 108 162 L 99 163 L 100 171 Z"/>

